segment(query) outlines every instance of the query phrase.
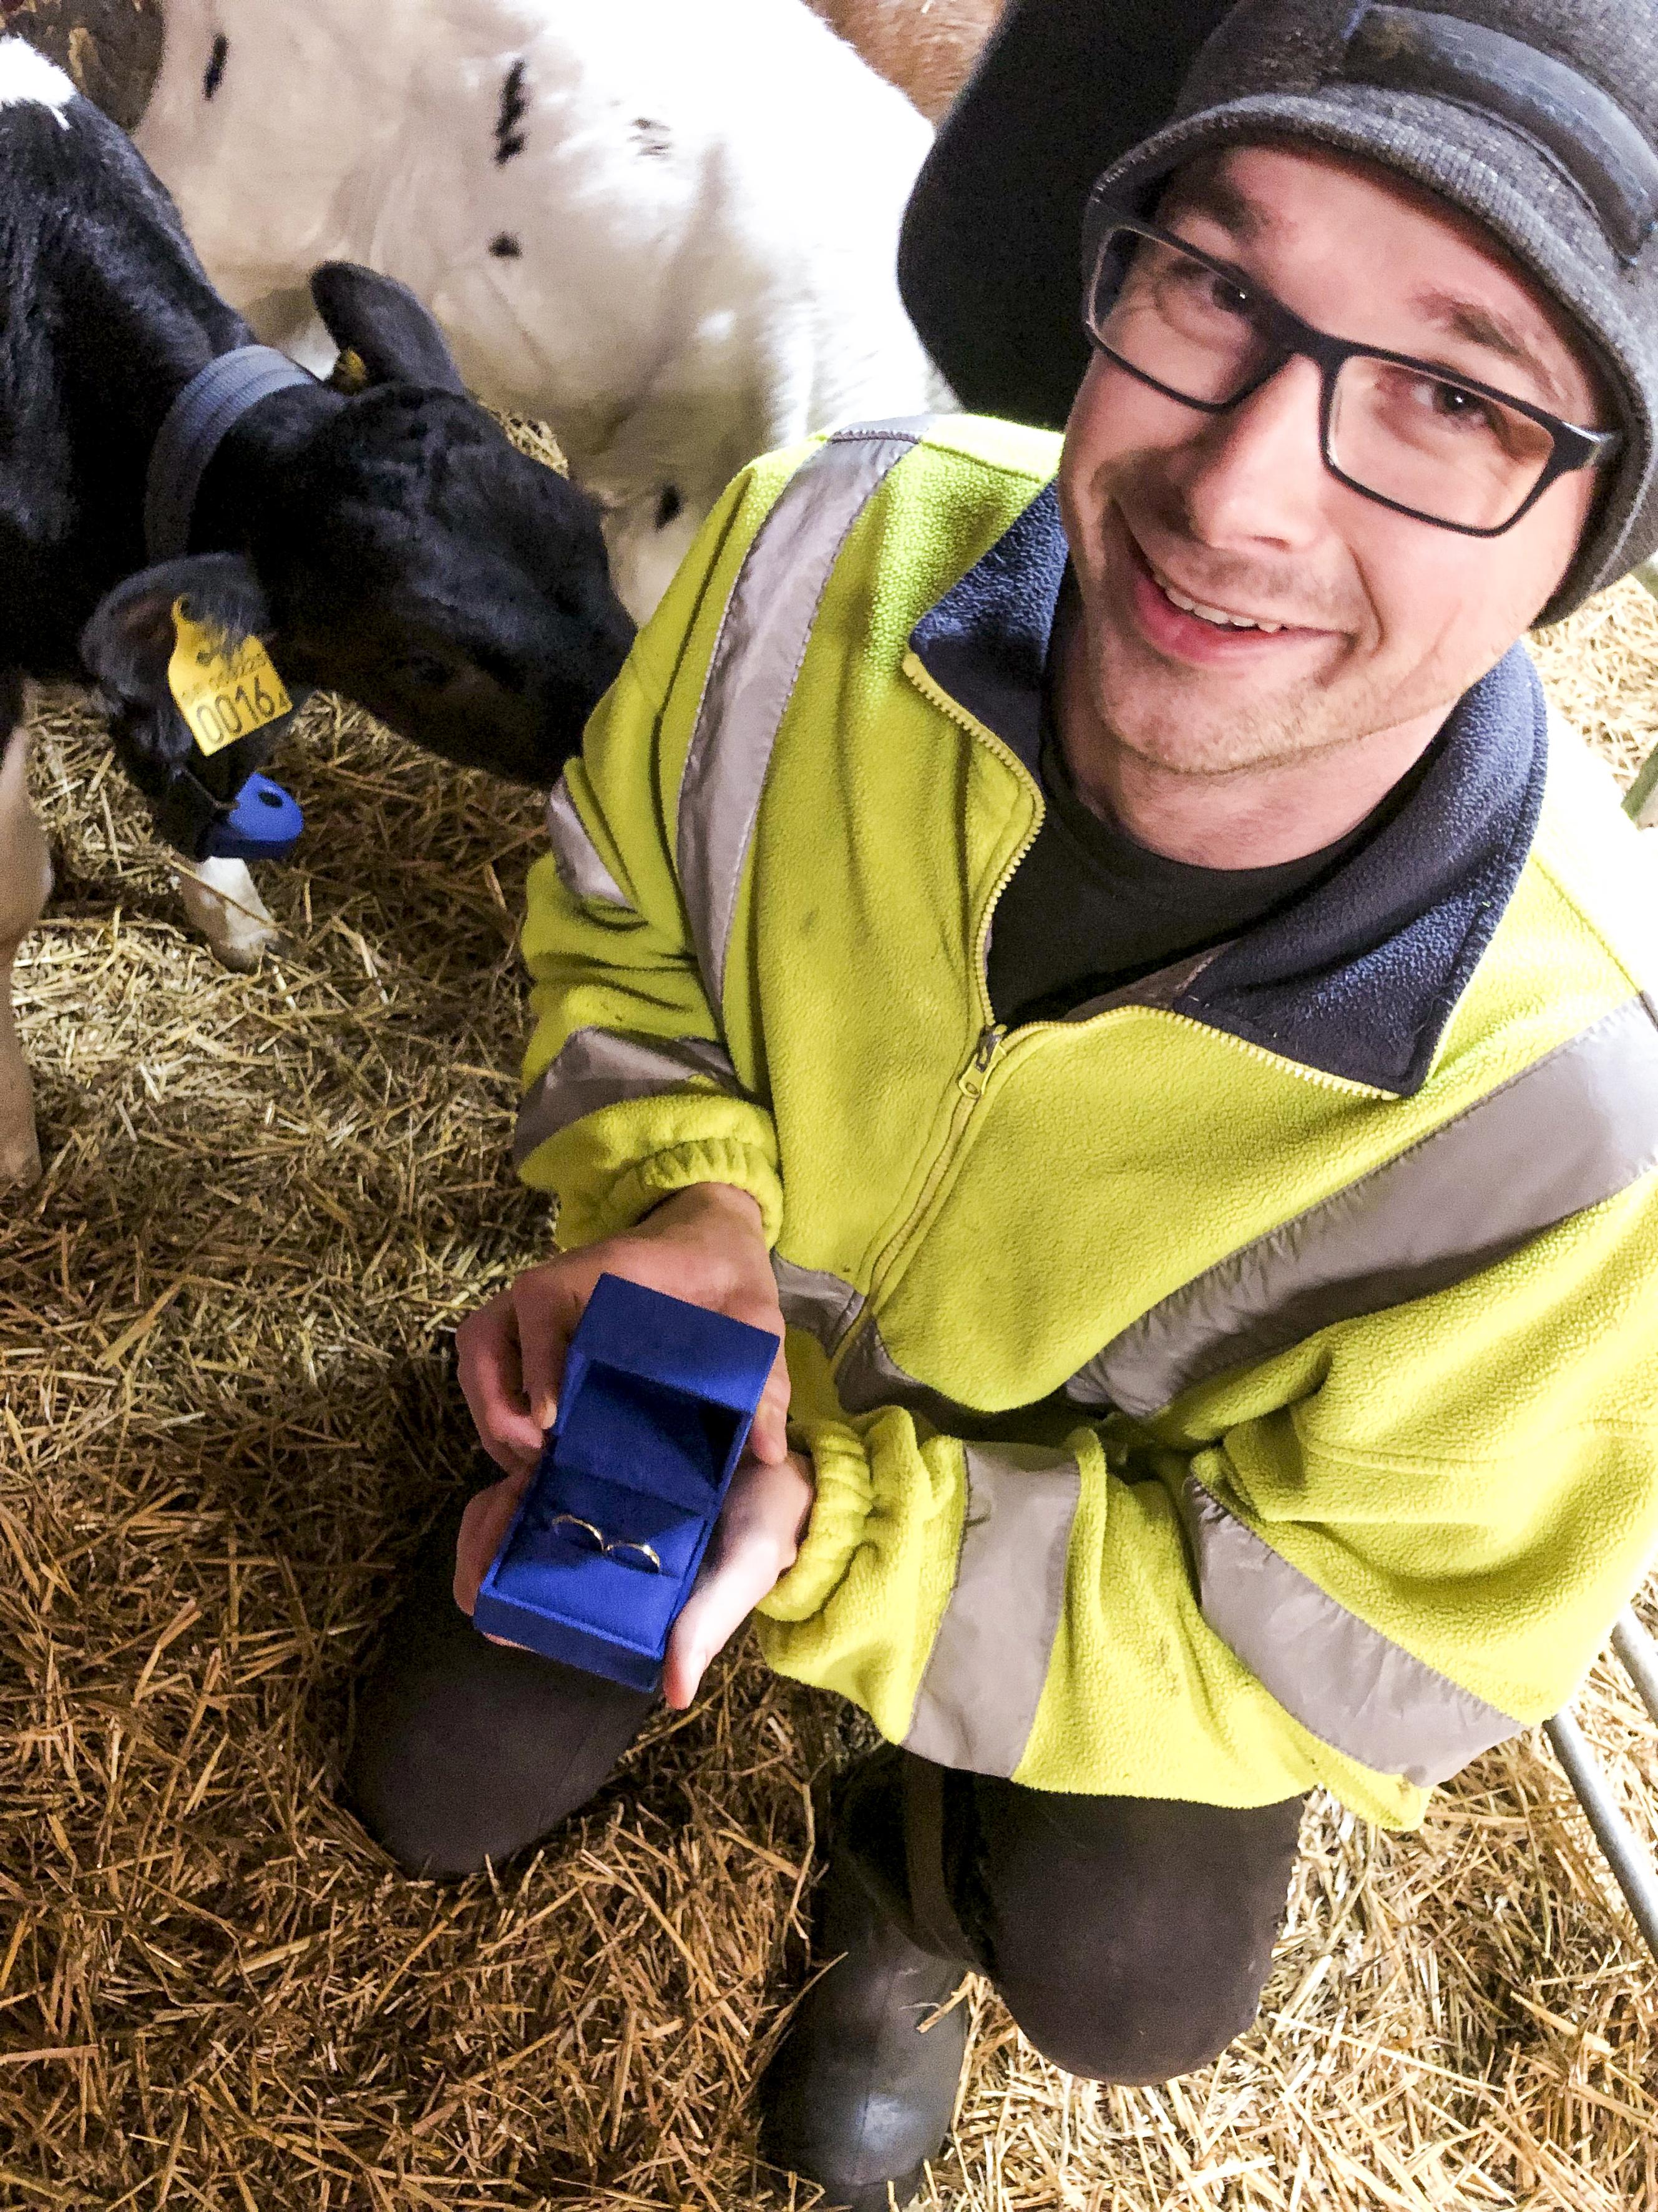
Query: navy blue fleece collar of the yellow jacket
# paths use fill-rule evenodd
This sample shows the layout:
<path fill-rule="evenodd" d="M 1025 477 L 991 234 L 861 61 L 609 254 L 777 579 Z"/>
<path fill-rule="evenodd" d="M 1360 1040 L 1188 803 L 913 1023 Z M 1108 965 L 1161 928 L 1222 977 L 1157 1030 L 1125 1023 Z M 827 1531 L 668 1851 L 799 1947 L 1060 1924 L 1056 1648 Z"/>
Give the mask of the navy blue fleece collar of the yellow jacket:
<path fill-rule="evenodd" d="M 1048 484 L 922 615 L 928 677 L 1037 774 L 1068 546 Z M 1455 708 L 1402 812 L 1284 914 L 1225 945 L 1172 1004 L 1284 1060 L 1410 1095 L 1514 894 L 1547 772 L 1521 646 Z"/>

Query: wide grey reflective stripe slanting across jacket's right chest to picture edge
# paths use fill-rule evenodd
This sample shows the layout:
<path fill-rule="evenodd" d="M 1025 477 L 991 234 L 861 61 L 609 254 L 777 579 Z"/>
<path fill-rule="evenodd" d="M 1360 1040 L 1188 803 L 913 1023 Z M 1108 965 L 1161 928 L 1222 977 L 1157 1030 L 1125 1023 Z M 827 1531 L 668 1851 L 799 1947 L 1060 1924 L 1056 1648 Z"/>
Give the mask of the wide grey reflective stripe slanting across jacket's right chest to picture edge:
<path fill-rule="evenodd" d="M 1658 1013 L 1634 998 L 1150 1307 L 1066 1396 L 1156 1413 L 1335 1321 L 1448 1290 L 1654 1166 Z"/>

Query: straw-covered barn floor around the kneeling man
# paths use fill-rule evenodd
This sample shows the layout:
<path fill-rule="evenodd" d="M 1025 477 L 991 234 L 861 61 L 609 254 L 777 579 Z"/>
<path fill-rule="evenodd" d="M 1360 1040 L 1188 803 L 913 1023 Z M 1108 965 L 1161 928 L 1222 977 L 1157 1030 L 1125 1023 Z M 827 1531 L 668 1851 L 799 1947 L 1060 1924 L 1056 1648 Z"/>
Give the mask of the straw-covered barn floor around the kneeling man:
<path fill-rule="evenodd" d="M 1658 608 L 1545 659 L 1625 768 Z M 20 967 L 44 1186 L 0 1225 L 0 2199 L 794 2203 L 747 2084 L 800 1969 L 831 1701 L 727 1661 L 526 1867 L 398 1880 L 334 1805 L 351 1677 L 466 1471 L 453 1321 L 544 1248 L 506 1170 L 537 807 L 318 701 L 261 975 L 179 925 L 66 701 Z M 1620 1679 L 1583 1714 L 1658 1840 Z M 953 2212 L 1658 2212 L 1658 1971 L 1539 1741 L 1419 1836 L 1329 1805 L 1258 2028 L 1068 2081 L 970 1991 Z"/>

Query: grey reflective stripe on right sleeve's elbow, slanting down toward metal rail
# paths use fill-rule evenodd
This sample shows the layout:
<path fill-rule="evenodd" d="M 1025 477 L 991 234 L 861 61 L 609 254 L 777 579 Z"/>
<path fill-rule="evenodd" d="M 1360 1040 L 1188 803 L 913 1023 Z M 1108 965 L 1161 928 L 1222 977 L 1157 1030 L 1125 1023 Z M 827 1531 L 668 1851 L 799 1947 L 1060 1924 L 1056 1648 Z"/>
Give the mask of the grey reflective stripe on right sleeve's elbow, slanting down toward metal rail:
<path fill-rule="evenodd" d="M 1521 1728 L 1368 1628 L 1194 1478 L 1185 1515 L 1205 1621 L 1320 1743 L 1430 1790 Z"/>

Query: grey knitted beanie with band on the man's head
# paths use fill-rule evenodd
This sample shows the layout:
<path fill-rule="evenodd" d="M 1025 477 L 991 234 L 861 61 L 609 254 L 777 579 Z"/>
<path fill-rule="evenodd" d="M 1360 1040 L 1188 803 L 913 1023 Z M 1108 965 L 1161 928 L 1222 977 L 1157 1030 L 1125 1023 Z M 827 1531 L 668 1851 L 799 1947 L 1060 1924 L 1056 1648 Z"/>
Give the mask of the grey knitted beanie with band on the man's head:
<path fill-rule="evenodd" d="M 1150 210 L 1194 155 L 1253 137 L 1368 155 L 1486 223 L 1583 332 L 1627 447 L 1543 622 L 1658 551 L 1658 0 L 1238 0 L 1174 122 L 1096 181 Z"/>

